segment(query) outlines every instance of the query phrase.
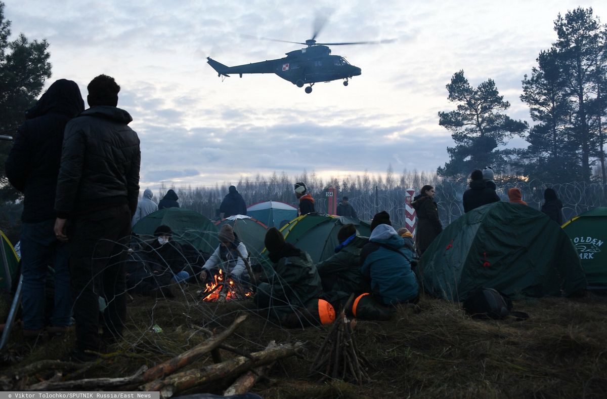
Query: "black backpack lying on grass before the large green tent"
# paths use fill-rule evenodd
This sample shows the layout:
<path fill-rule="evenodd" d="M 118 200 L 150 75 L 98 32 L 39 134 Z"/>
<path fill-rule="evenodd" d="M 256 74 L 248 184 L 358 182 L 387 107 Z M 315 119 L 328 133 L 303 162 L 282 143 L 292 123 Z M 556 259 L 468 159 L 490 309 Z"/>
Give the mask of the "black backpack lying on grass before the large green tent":
<path fill-rule="evenodd" d="M 493 288 L 478 288 L 464 301 L 464 310 L 475 319 L 504 319 L 515 316 L 524 320 L 529 315 L 524 312 L 511 312 L 512 299 Z"/>

